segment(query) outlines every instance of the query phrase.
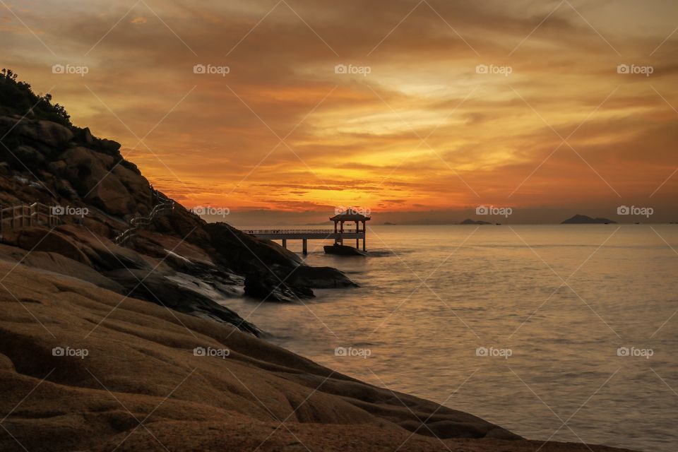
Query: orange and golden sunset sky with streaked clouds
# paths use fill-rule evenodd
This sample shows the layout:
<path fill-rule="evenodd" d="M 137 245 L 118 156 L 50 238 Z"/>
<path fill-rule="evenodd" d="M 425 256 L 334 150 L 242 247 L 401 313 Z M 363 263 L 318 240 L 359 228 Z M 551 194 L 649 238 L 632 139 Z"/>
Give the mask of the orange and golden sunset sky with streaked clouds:
<path fill-rule="evenodd" d="M 665 222 L 677 30 L 663 0 L 0 0 L 0 66 L 234 224 Z"/>

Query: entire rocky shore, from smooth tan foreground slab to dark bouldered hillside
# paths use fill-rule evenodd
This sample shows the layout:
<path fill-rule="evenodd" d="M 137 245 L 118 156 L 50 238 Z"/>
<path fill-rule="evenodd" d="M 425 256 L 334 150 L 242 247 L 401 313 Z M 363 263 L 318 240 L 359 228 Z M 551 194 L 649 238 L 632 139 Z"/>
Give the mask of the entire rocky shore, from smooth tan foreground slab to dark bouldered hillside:
<path fill-rule="evenodd" d="M 120 246 L 166 196 L 119 143 L 0 82 L 0 450 L 612 451 L 526 441 L 261 339 L 215 300 L 355 283 L 179 203 Z M 14 220 L 33 203 L 59 224 Z"/>

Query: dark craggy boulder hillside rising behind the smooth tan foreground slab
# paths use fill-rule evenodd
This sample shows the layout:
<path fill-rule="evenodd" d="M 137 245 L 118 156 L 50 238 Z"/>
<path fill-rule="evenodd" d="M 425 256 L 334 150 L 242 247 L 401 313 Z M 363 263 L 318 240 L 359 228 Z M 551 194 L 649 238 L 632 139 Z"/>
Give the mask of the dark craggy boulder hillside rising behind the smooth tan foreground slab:
<path fill-rule="evenodd" d="M 20 84 L 0 77 L 0 99 L 13 96 L 16 100 L 18 95 L 33 96 Z M 124 160 L 119 143 L 72 126 L 67 115 L 49 105 L 46 98 L 23 103 L 40 108 L 25 116 L 0 114 L 0 136 L 5 137 L 6 145 L 0 148 L 0 203 L 67 206 L 86 214 L 63 215 L 65 224 L 55 230 L 35 227 L 16 234 L 6 232 L 6 244 L 63 256 L 66 261 L 61 263 L 71 265 L 61 272 L 64 275 L 75 275 L 75 268 L 87 266 L 98 275 L 91 278 L 95 284 L 118 291 L 121 287 L 131 290 L 135 278 L 130 274 L 146 272 L 146 288 L 157 287 L 160 295 L 143 292 L 141 285 L 133 290 L 138 297 L 178 311 L 212 316 L 255 334 L 256 327 L 237 314 L 220 310 L 219 304 L 207 306 L 204 292 L 177 289 L 167 278 L 182 274 L 209 285 L 218 296 L 246 295 L 271 302 L 313 297 L 314 288 L 355 285 L 338 270 L 306 266 L 278 244 L 225 223 L 207 223 L 179 204 L 171 214 L 155 218 L 128 248 L 116 246 L 112 239 L 129 227 L 129 220 L 147 215 L 164 195 L 153 190 L 136 165 Z M 11 107 L 0 105 L 0 112 Z M 47 260 L 44 263 L 47 265 Z M 91 272 L 83 274 L 92 276 Z M 161 283 L 177 292 L 160 290 Z"/>

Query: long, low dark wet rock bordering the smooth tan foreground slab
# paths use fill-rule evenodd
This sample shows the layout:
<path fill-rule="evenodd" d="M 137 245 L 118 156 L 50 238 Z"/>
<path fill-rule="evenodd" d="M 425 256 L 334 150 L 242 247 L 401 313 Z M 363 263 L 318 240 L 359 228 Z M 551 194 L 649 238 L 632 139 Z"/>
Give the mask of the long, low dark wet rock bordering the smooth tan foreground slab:
<path fill-rule="evenodd" d="M 129 297 L 144 299 L 184 314 L 229 323 L 241 331 L 256 336 L 262 334 L 256 326 L 242 319 L 235 311 L 201 293 L 174 283 L 160 273 L 152 272 L 153 270 L 119 269 L 106 272 L 104 275 L 129 291 Z"/>

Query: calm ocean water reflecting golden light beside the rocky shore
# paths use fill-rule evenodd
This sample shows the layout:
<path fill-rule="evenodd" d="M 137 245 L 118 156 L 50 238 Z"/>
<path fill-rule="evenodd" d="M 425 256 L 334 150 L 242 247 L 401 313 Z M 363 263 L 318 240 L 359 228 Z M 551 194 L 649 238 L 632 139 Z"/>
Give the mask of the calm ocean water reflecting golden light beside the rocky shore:
<path fill-rule="evenodd" d="M 362 287 L 227 304 L 300 355 L 530 439 L 677 450 L 678 225 L 374 226 L 371 257 L 322 245 L 307 262 Z"/>

